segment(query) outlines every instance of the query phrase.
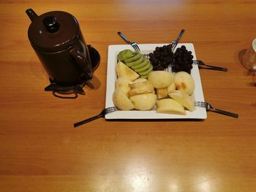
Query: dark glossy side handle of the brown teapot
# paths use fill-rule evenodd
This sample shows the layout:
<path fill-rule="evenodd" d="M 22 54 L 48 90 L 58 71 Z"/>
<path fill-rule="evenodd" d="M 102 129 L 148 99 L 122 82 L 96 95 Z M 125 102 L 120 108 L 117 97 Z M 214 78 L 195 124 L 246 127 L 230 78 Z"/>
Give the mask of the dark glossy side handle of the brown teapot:
<path fill-rule="evenodd" d="M 79 47 L 75 47 L 74 49 L 70 50 L 69 53 L 72 56 L 72 58 L 75 59 L 75 64 L 78 71 L 82 72 L 80 74 L 80 77 L 86 81 L 91 80 L 92 78 L 91 64 L 89 63 L 89 61 L 87 61 L 83 53 L 81 53 Z"/>

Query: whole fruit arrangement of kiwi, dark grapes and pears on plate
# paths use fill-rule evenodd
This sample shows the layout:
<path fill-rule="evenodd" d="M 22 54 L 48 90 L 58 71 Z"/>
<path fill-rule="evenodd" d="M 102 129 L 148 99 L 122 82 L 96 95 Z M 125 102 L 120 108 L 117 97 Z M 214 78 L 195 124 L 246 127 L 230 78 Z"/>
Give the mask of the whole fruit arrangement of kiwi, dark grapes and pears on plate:
<path fill-rule="evenodd" d="M 118 53 L 113 93 L 118 110 L 156 110 L 180 115 L 194 110 L 195 82 L 189 74 L 192 55 L 186 47 L 178 48 L 178 53 L 169 50 L 168 45 L 157 47 L 149 53 L 149 60 L 132 50 Z M 165 71 L 166 66 L 172 66 L 174 72 Z"/>

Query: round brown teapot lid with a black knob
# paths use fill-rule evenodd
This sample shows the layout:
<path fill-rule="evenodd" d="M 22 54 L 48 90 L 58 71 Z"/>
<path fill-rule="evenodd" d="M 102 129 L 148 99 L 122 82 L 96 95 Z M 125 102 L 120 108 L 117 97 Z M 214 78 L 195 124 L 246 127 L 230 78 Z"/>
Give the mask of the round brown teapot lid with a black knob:
<path fill-rule="evenodd" d="M 80 30 L 78 20 L 73 15 L 53 11 L 34 17 L 28 35 L 31 45 L 37 50 L 56 52 L 73 45 L 80 35 Z"/>

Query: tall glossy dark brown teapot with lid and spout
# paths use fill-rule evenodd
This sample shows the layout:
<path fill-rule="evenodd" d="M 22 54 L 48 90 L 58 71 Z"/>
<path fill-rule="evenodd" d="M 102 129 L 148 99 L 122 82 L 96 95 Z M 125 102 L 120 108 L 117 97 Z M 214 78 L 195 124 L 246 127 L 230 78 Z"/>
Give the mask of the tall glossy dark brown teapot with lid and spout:
<path fill-rule="evenodd" d="M 28 31 L 31 46 L 48 73 L 50 82 L 55 84 L 50 91 L 69 93 L 70 89 L 78 90 L 75 88 L 77 85 L 91 80 L 94 66 L 90 46 L 83 39 L 78 20 L 62 11 L 38 16 L 33 9 L 27 9 L 26 13 L 31 19 Z"/>

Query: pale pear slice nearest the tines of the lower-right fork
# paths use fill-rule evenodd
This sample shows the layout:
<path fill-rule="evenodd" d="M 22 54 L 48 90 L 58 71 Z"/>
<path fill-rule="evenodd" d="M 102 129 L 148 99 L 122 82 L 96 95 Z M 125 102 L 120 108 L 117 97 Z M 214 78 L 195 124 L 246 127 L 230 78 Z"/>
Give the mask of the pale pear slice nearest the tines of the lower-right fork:
<path fill-rule="evenodd" d="M 194 110 L 194 99 L 187 93 L 179 90 L 171 91 L 168 94 L 171 98 L 178 101 L 182 106 L 186 107 L 189 111 Z"/>

